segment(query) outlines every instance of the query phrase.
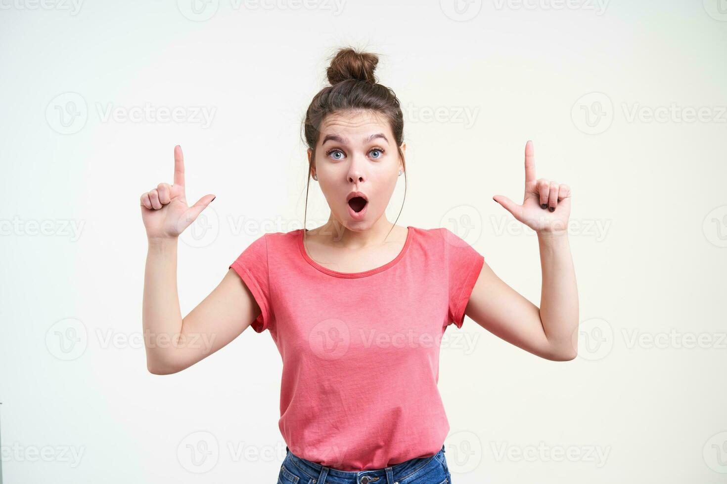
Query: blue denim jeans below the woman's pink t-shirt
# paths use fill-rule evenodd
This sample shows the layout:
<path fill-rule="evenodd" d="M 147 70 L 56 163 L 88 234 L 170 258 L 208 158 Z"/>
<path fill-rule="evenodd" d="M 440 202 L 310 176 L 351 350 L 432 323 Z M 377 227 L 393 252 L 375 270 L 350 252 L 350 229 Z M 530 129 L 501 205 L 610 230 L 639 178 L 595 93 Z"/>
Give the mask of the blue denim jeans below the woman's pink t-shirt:
<path fill-rule="evenodd" d="M 321 466 L 287 454 L 280 467 L 278 484 L 449 484 L 451 475 L 444 446 L 431 457 L 417 457 L 383 469 L 347 472 Z"/>

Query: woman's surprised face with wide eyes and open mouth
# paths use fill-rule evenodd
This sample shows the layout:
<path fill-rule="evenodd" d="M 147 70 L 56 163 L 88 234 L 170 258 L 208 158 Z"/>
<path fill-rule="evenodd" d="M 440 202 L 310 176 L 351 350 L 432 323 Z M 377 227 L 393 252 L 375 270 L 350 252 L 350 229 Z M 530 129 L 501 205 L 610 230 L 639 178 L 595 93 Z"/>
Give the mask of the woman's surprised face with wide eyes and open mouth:
<path fill-rule="evenodd" d="M 404 152 L 406 144 L 401 144 Z M 308 149 L 310 160 L 312 150 Z M 347 229 L 369 229 L 386 210 L 403 163 L 389 123 L 370 111 L 327 115 L 321 123 L 313 173 L 332 215 Z M 351 192 L 361 198 L 349 201 Z M 365 202 L 365 203 L 364 203 Z"/>

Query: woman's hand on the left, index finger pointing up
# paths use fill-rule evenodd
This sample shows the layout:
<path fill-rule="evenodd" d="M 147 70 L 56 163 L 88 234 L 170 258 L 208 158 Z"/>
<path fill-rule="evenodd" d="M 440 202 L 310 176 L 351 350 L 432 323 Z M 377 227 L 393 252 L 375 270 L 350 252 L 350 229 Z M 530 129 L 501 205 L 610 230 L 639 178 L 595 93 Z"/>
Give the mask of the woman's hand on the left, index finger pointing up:
<path fill-rule="evenodd" d="M 174 184 L 160 183 L 141 196 L 141 217 L 147 239 L 150 242 L 177 239 L 212 200 L 214 195 L 208 194 L 191 207 L 187 206 L 184 156 L 177 144 L 174 147 Z"/>

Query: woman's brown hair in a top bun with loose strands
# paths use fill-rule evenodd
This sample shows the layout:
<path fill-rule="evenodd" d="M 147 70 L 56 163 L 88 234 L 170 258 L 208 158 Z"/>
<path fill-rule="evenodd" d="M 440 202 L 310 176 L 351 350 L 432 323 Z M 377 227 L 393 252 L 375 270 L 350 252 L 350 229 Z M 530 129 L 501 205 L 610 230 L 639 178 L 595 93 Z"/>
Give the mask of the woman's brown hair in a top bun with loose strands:
<path fill-rule="evenodd" d="M 376 112 L 383 115 L 388 121 L 404 167 L 404 199 L 406 200 L 406 163 L 401 151 L 404 129 L 403 114 L 394 91 L 379 84 L 374 75 L 378 63 L 377 54 L 359 52 L 350 47 L 338 49 L 331 60 L 331 65 L 326 69 L 326 76 L 331 85 L 318 91 L 305 112 L 303 121 L 305 144 L 308 144 L 308 147 L 313 150 L 308 163 L 308 180 L 305 187 L 305 215 L 308 213 L 310 173 L 313 169 L 313 162 L 316 160 L 316 144 L 318 136 L 321 134 L 321 123 L 327 115 L 345 110 Z M 401 207 L 403 208 L 403 202 Z M 401 209 L 399 214 L 401 214 Z M 303 216 L 304 235 L 305 215 Z M 398 218 L 396 216 L 396 220 Z M 391 228 L 393 229 L 393 226 Z"/>

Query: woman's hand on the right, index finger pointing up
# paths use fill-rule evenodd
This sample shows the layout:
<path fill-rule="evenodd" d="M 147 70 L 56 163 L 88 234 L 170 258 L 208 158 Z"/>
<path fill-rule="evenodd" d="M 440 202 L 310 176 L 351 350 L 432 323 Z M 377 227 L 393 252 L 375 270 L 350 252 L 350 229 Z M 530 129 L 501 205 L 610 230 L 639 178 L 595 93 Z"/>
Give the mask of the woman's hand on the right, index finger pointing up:
<path fill-rule="evenodd" d="M 502 195 L 492 199 L 534 231 L 563 232 L 568 229 L 571 214 L 571 188 L 566 184 L 547 179 L 535 179 L 533 142 L 525 144 L 525 197 L 523 205 Z"/>

